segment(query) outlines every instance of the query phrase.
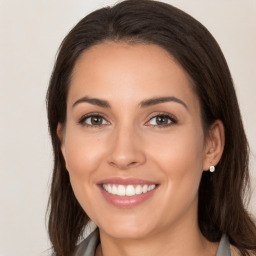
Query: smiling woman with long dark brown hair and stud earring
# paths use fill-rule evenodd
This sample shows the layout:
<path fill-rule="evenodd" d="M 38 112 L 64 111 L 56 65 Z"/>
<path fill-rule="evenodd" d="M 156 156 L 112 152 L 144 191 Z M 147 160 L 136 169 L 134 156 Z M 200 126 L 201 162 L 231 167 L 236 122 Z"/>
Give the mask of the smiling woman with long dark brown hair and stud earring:
<path fill-rule="evenodd" d="M 148 0 L 89 14 L 60 47 L 47 107 L 55 255 L 256 255 L 232 78 L 198 21 Z"/>

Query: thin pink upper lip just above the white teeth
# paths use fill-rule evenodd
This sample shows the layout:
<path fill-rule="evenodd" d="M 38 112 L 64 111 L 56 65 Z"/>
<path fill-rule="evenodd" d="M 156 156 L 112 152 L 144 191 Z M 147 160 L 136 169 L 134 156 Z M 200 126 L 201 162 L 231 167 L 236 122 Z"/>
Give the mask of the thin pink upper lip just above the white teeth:
<path fill-rule="evenodd" d="M 120 184 L 120 185 L 152 185 L 157 184 L 154 181 L 139 179 L 139 178 L 120 178 L 120 177 L 113 177 L 113 178 L 107 178 L 100 180 L 97 182 L 97 185 L 102 184 Z"/>

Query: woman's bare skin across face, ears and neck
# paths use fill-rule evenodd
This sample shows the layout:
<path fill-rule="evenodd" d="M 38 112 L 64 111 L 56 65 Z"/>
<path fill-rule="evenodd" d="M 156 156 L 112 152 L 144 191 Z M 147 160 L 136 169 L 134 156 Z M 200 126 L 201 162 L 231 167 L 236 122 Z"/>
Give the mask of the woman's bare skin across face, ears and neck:
<path fill-rule="evenodd" d="M 111 107 L 73 106 L 85 96 Z M 140 106 L 163 96 L 187 107 L 175 101 Z M 79 123 L 90 113 L 103 116 L 101 125 L 90 125 L 90 118 Z M 166 118 L 169 125 L 161 126 L 154 118 L 159 113 L 177 122 Z M 205 135 L 191 80 L 164 49 L 104 42 L 86 50 L 74 67 L 67 121 L 57 133 L 74 193 L 100 230 L 97 255 L 216 255 L 218 244 L 198 227 L 198 187 L 202 172 L 221 158 L 224 128 L 217 120 Z M 159 187 L 142 204 L 118 208 L 96 185 L 110 177 L 146 179 Z"/>

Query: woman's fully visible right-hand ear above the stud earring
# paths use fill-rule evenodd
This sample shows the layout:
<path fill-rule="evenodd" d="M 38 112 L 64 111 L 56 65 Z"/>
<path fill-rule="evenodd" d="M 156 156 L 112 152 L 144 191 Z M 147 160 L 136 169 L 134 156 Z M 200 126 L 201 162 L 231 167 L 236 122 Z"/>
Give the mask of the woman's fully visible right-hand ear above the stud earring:
<path fill-rule="evenodd" d="M 205 144 L 203 170 L 216 166 L 221 159 L 225 145 L 225 128 L 220 120 L 216 120 L 208 131 Z"/>

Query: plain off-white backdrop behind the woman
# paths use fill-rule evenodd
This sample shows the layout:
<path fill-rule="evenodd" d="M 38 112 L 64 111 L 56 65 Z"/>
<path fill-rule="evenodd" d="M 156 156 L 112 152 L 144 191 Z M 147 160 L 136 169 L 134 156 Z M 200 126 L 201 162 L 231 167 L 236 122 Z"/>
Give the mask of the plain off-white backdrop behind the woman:
<path fill-rule="evenodd" d="M 0 256 L 47 255 L 52 152 L 45 94 L 59 44 L 104 0 L 0 0 Z M 169 0 L 202 22 L 229 64 L 256 176 L 256 1 Z M 256 213 L 256 196 L 249 210 Z"/>

